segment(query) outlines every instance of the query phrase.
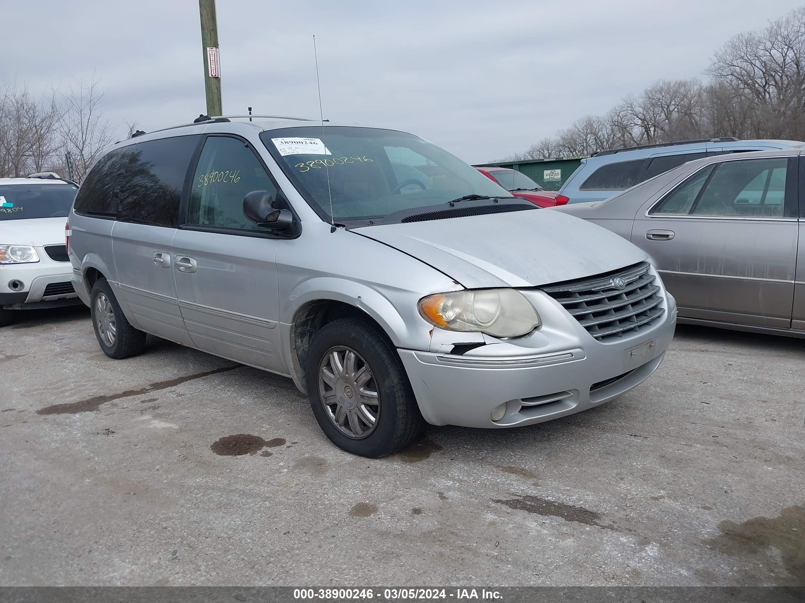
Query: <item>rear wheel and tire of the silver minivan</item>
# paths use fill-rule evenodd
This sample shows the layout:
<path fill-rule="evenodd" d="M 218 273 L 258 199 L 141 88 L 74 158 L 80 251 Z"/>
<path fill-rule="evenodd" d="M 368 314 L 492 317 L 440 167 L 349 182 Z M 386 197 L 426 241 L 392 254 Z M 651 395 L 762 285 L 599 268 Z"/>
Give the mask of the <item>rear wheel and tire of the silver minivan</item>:
<path fill-rule="evenodd" d="M 89 310 L 95 337 L 105 355 L 119 360 L 142 353 L 146 334 L 131 326 L 106 279 L 95 281 L 89 293 Z"/>

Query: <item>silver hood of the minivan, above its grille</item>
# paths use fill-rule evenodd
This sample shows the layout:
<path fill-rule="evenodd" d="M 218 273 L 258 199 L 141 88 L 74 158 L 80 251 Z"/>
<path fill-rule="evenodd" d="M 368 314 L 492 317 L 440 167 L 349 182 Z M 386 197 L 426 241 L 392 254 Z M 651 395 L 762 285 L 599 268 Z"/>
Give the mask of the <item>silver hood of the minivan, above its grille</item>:
<path fill-rule="evenodd" d="M 468 289 L 533 287 L 617 270 L 646 253 L 605 228 L 559 211 L 512 211 L 354 228 Z"/>

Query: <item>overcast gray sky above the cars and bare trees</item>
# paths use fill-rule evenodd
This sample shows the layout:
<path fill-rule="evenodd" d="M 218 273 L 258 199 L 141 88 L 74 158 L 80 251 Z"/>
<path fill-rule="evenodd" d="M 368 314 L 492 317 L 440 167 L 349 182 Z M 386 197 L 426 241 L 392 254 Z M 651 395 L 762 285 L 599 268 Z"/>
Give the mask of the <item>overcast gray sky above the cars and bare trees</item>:
<path fill-rule="evenodd" d="M 525 150 L 659 79 L 701 76 L 731 35 L 803 0 L 217 0 L 225 113 L 404 129 L 468 162 Z M 105 115 L 204 113 L 196 0 L 0 0 L 0 82 L 102 78 Z"/>

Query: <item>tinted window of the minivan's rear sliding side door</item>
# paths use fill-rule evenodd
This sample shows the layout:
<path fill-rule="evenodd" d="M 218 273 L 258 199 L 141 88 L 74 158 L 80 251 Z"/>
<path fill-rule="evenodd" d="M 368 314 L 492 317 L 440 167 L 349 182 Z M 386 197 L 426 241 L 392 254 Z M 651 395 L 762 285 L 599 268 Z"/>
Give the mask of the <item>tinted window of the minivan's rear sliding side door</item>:
<path fill-rule="evenodd" d="M 184 179 L 199 137 L 160 138 L 122 149 L 118 219 L 176 226 Z"/>

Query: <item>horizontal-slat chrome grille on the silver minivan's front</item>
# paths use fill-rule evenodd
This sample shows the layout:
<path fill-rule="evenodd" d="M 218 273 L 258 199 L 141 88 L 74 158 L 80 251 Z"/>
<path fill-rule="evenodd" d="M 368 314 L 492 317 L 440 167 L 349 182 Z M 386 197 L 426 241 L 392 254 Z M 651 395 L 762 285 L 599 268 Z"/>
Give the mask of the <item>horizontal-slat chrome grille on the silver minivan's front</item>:
<path fill-rule="evenodd" d="M 595 277 L 540 287 L 559 301 L 598 341 L 615 341 L 638 333 L 663 315 L 663 297 L 658 295 L 649 263 Z M 620 288 L 615 284 L 622 285 Z"/>

